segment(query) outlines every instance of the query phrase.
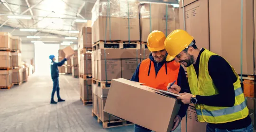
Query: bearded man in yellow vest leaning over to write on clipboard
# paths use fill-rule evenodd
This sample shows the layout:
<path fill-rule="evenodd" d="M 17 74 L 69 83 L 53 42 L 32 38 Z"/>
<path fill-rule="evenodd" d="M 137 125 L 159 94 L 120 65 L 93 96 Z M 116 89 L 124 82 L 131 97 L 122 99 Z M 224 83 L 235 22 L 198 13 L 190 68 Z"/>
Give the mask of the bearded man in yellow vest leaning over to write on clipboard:
<path fill-rule="evenodd" d="M 192 94 L 180 93 L 177 99 L 195 104 L 198 120 L 208 123 L 206 132 L 253 132 L 239 76 L 224 58 L 198 49 L 193 37 L 180 29 L 167 36 L 165 48 L 166 61 L 175 59 L 187 67 Z M 180 90 L 176 85 L 169 91 Z"/>

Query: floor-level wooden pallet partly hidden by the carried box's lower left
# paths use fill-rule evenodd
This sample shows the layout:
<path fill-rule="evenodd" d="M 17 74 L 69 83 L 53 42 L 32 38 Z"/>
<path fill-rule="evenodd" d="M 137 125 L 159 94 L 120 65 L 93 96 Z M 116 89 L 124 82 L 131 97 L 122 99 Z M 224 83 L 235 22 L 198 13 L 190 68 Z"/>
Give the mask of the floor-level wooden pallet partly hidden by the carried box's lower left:
<path fill-rule="evenodd" d="M 120 126 L 127 126 L 127 125 L 134 125 L 134 123 L 131 123 L 131 122 L 126 121 L 126 120 L 119 120 L 119 119 L 102 122 L 101 118 L 99 118 L 99 116 L 97 114 L 95 114 L 93 112 L 93 110 L 91 111 L 91 113 L 92 113 L 93 117 L 97 116 L 97 122 L 102 123 L 102 127 L 104 129 L 113 128 L 113 127 L 120 127 Z"/>

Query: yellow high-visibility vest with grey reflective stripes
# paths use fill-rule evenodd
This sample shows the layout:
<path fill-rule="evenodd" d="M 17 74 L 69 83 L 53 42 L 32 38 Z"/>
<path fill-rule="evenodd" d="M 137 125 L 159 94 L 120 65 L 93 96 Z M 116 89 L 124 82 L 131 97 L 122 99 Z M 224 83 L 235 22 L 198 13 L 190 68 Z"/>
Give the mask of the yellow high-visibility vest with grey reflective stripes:
<path fill-rule="evenodd" d="M 211 96 L 219 94 L 208 72 L 208 61 L 212 55 L 217 54 L 212 53 L 207 49 L 204 49 L 204 51 L 201 53 L 198 78 L 193 65 L 187 68 L 190 90 L 194 95 Z M 239 77 L 234 68 L 232 66 L 231 68 L 238 78 L 237 82 L 233 84 L 235 91 L 234 106 L 212 107 L 203 104 L 197 104 L 195 107 L 197 117 L 200 122 L 219 124 L 232 122 L 247 117 L 248 108 Z"/>

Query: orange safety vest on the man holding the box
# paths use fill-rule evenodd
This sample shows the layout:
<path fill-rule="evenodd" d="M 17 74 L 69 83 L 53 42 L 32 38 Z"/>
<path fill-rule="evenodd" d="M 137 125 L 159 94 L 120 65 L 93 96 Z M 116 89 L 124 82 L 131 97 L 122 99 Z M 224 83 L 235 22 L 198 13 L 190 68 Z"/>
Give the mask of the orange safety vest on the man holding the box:
<path fill-rule="evenodd" d="M 170 82 L 177 84 L 180 64 L 175 61 L 166 62 L 155 77 L 154 62 L 149 58 L 143 60 L 139 66 L 139 82 L 159 90 L 167 90 Z"/>

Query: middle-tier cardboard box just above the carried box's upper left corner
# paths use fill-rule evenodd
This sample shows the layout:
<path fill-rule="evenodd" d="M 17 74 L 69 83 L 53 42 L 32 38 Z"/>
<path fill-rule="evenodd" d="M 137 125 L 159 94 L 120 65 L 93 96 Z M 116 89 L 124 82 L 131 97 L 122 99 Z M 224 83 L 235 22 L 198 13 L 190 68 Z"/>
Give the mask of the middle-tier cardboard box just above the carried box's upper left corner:
<path fill-rule="evenodd" d="M 98 60 L 97 67 L 97 79 L 100 81 L 121 78 L 121 59 Z"/>

